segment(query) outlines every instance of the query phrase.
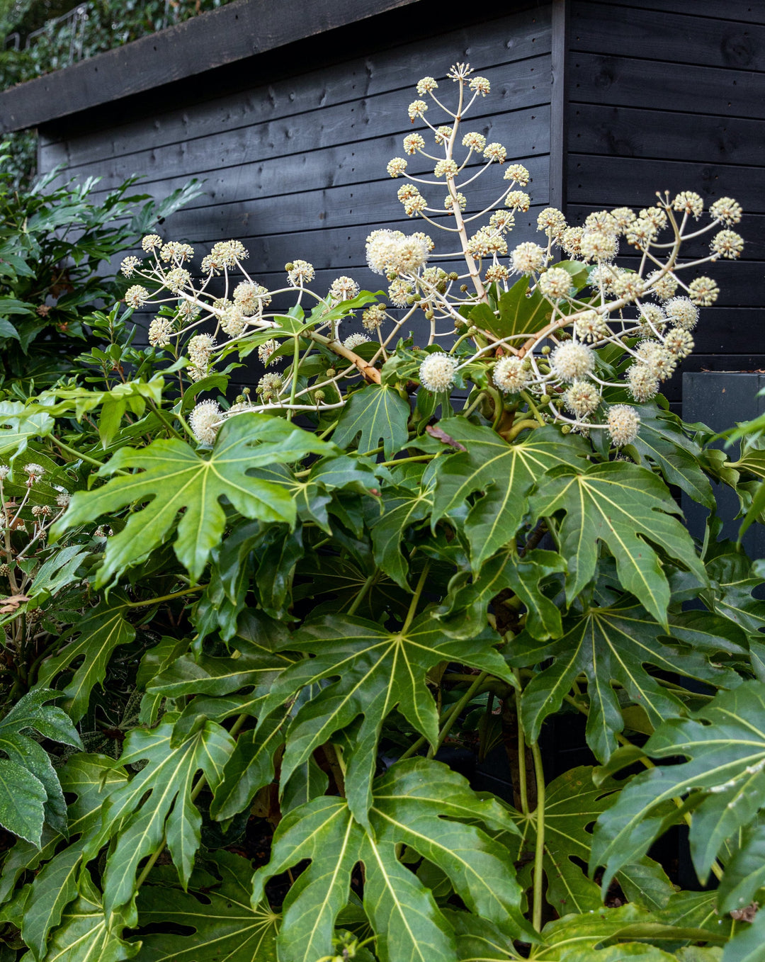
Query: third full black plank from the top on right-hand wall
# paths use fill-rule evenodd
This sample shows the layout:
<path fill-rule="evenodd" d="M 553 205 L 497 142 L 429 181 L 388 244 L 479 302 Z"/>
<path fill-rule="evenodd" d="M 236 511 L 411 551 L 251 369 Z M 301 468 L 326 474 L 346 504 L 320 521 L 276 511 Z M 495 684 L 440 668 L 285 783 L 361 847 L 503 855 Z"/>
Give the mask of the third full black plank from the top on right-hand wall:
<path fill-rule="evenodd" d="M 569 110 L 571 149 L 577 154 L 765 165 L 765 120 L 585 104 Z"/>

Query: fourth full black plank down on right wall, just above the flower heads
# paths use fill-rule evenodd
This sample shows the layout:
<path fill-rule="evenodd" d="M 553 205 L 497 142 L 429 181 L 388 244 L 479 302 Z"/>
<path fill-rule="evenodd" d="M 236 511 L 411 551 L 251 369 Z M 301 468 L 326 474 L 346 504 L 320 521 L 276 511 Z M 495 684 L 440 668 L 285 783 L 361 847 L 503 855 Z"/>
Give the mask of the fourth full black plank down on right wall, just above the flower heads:
<path fill-rule="evenodd" d="M 575 204 L 647 207 L 656 190 L 695 190 L 707 206 L 732 196 L 746 211 L 765 214 L 765 178 L 753 167 L 571 153 L 568 186 Z"/>

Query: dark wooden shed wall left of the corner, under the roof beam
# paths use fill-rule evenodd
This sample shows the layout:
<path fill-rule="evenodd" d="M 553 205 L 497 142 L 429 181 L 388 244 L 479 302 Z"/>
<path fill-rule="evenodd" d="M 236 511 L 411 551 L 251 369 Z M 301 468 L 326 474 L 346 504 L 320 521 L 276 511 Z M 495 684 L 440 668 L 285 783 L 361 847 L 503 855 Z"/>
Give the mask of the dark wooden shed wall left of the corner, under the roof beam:
<path fill-rule="evenodd" d="M 193 243 L 200 259 L 215 241 L 237 238 L 250 252 L 252 275 L 269 288 L 283 286 L 285 263 L 299 257 L 317 267 L 321 293 L 339 274 L 374 291 L 387 282 L 366 266 L 370 229 L 425 229 L 441 250 L 454 249 L 446 234 L 403 215 L 395 196 L 403 182 L 385 168 L 402 155 L 402 138 L 421 128 L 407 116 L 417 81 L 428 74 L 440 79 L 452 63 L 468 61 L 491 79 L 492 93 L 476 102 L 464 129 L 499 140 L 532 174 L 534 206 L 518 218 L 511 243 L 527 240 L 549 203 L 550 8 L 535 4 L 519 12 L 523 5 L 514 6 L 516 13 L 435 36 L 438 20 L 430 17 L 418 28 L 408 8 L 387 47 L 378 35 L 367 35 L 365 51 L 362 35 L 350 48 L 352 59 L 295 69 L 271 83 L 258 82 L 263 71 L 253 61 L 220 83 L 212 71 L 206 98 L 197 84 L 176 89 L 159 107 L 148 95 L 127 116 L 102 112 L 95 125 L 89 114 L 79 124 L 48 126 L 40 168 L 61 164 L 66 176 L 99 176 L 103 191 L 140 172 L 142 189 L 156 196 L 202 178 L 205 195 L 165 225 L 168 237 Z M 333 52 L 336 57 L 336 47 Z M 253 80 L 244 86 L 248 74 Z M 221 86 L 225 92 L 211 96 Z M 453 90 L 441 80 L 446 103 Z M 428 119 L 447 118 L 431 106 Z M 432 174 L 427 163 L 410 159 L 410 169 Z M 502 172 L 493 165 L 476 182 L 472 211 L 501 193 Z M 429 190 L 433 206 L 441 207 L 446 188 Z"/>

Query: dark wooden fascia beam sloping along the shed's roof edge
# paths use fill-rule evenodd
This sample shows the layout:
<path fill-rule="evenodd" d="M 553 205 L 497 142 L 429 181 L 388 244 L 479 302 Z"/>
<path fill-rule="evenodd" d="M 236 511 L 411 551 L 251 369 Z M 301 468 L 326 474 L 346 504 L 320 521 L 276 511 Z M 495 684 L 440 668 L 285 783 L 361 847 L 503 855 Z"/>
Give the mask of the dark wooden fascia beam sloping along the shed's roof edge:
<path fill-rule="evenodd" d="M 237 0 L 0 92 L 0 130 L 37 127 L 418 2 Z"/>

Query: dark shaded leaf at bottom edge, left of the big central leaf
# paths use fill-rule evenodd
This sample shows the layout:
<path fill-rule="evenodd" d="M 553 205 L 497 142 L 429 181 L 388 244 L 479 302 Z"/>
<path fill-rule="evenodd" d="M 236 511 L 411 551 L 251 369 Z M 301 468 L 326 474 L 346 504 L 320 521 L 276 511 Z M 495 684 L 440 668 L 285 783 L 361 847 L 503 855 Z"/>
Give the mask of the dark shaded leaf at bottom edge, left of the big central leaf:
<path fill-rule="evenodd" d="M 140 890 L 141 926 L 182 925 L 192 932 L 141 936 L 138 962 L 274 962 L 279 916 L 266 901 L 250 907 L 250 863 L 217 851 L 215 870 L 219 884 L 202 888 L 192 879 L 188 893 L 164 885 Z"/>

